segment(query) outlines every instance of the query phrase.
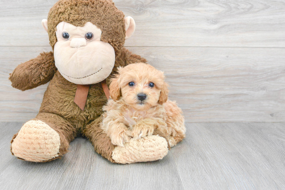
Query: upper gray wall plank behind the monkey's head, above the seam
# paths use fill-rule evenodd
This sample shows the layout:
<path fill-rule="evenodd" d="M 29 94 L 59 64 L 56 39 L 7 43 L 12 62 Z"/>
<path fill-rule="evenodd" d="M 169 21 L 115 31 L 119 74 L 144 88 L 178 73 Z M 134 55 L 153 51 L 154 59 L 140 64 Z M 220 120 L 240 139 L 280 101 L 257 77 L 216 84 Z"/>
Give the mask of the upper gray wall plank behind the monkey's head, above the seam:
<path fill-rule="evenodd" d="M 48 46 L 41 21 L 57 0 L 0 2 L 0 46 Z M 136 21 L 126 46 L 285 47 L 283 0 L 114 0 Z"/>

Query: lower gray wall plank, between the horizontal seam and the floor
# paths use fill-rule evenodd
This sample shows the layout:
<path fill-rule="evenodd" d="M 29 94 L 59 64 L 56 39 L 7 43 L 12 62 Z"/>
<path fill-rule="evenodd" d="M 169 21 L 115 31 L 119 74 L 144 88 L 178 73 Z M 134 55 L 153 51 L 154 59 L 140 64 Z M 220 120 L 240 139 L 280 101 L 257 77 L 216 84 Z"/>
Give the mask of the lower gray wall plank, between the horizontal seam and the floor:
<path fill-rule="evenodd" d="M 187 122 L 285 122 L 285 48 L 128 47 L 163 70 Z M 10 86 L 9 73 L 50 47 L 0 47 L 0 121 L 35 117 L 47 84 Z"/>

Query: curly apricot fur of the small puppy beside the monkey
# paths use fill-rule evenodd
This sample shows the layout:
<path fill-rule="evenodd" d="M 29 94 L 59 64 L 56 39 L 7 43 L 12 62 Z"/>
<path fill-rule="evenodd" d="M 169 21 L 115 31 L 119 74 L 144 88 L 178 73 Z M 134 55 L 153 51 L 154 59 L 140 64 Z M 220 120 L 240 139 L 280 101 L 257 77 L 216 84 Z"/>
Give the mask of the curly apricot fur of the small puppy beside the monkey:
<path fill-rule="evenodd" d="M 163 72 L 145 63 L 119 67 L 111 79 L 109 99 L 101 128 L 114 145 L 124 146 L 131 138 L 159 135 L 170 146 L 185 137 L 184 117 L 175 102 L 168 100 Z M 129 83 L 134 85 L 130 86 Z M 154 86 L 149 86 L 150 83 Z M 140 100 L 139 94 L 145 94 Z"/>

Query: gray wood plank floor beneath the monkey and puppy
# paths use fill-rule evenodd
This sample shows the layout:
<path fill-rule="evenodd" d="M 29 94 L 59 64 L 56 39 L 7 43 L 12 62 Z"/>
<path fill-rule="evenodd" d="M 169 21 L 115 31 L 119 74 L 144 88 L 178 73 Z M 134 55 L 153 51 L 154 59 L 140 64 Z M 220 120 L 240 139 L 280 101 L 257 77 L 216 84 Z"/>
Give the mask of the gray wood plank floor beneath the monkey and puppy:
<path fill-rule="evenodd" d="M 61 160 L 11 155 L 22 123 L 0 122 L 1 189 L 284 189 L 284 123 L 187 123 L 183 142 L 162 160 L 113 164 L 77 137 Z"/>

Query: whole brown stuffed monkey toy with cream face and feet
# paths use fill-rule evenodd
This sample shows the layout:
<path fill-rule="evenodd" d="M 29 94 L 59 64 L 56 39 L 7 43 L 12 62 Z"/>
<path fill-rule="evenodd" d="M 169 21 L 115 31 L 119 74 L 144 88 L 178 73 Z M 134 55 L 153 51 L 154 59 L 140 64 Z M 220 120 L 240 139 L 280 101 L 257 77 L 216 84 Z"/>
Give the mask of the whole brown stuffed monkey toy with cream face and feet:
<path fill-rule="evenodd" d="M 53 52 L 20 64 L 10 74 L 22 91 L 50 81 L 38 115 L 11 141 L 17 158 L 48 162 L 61 158 L 78 135 L 87 137 L 97 153 L 115 163 L 162 159 L 168 143 L 158 135 L 115 146 L 100 128 L 108 85 L 118 66 L 146 59 L 124 48 L 135 30 L 111 0 L 59 0 L 42 20 Z"/>

